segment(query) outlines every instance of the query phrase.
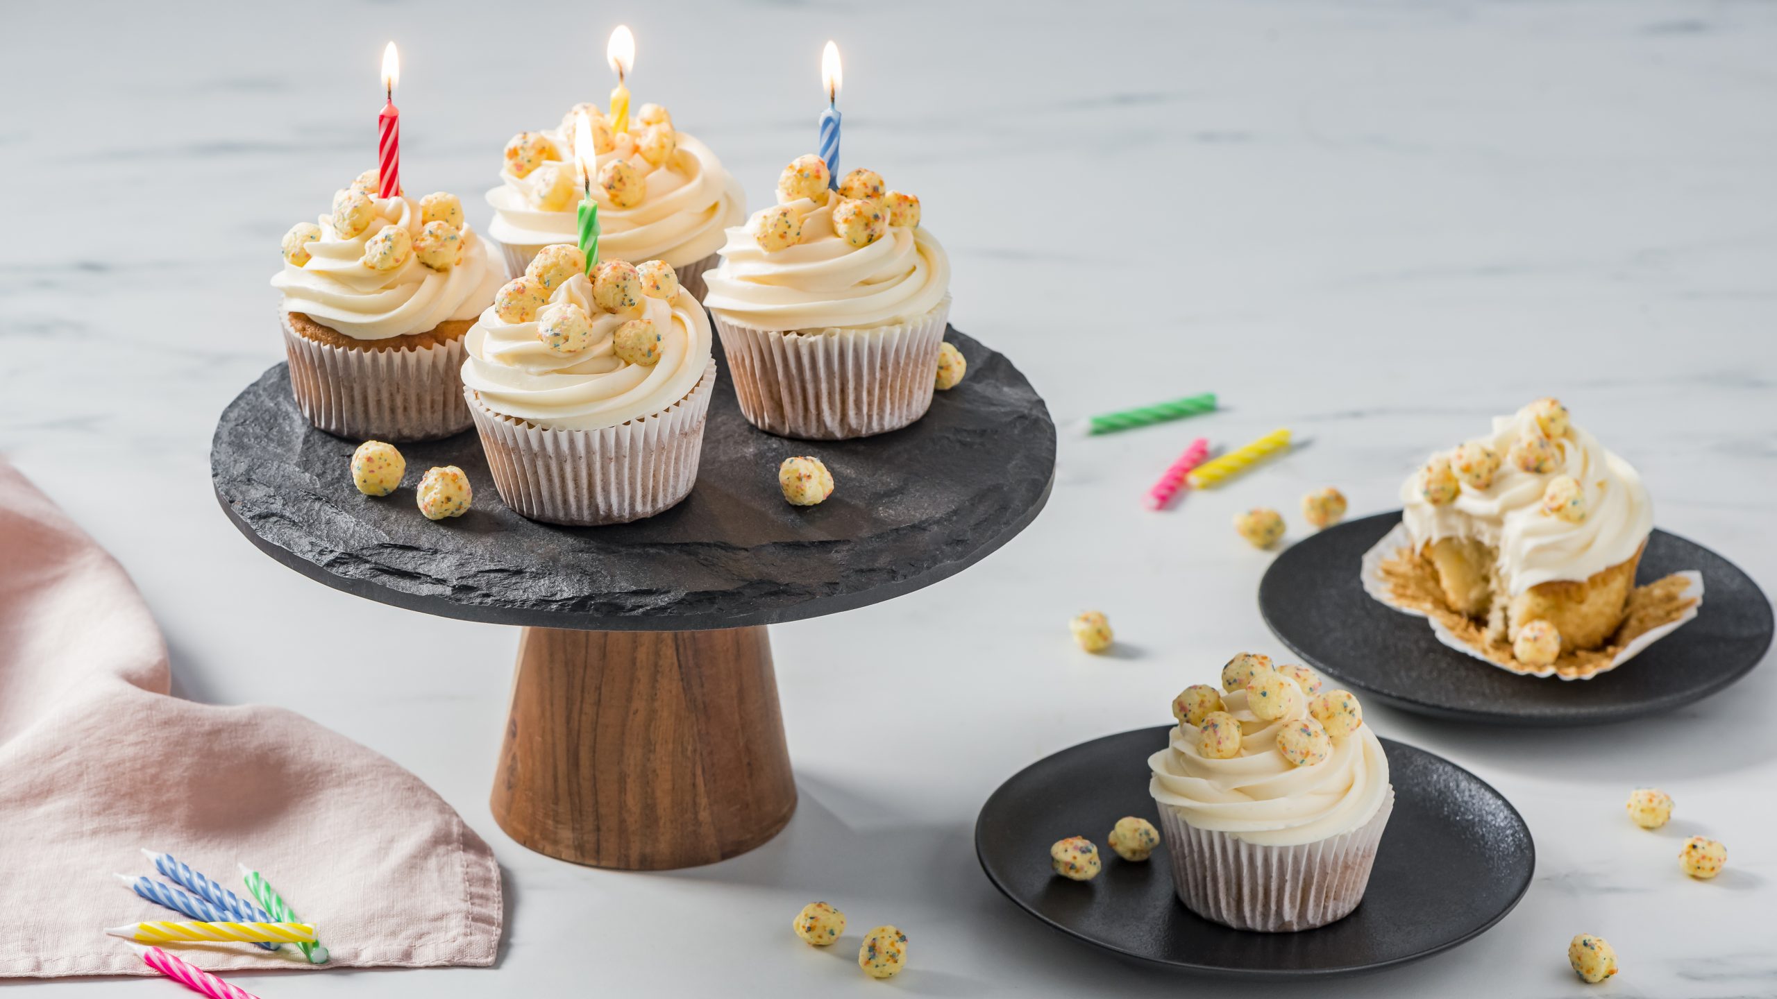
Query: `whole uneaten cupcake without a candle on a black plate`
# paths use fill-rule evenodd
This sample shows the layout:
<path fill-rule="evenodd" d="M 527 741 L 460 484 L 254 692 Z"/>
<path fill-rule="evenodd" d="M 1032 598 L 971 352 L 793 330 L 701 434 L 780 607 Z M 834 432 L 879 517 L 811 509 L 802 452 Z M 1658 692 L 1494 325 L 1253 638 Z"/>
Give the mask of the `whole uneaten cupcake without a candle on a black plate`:
<path fill-rule="evenodd" d="M 1230 670 L 1221 691 L 1180 693 L 1171 745 L 1148 757 L 1178 899 L 1235 930 L 1343 919 L 1395 807 L 1383 743 L 1304 667 L 1242 654 Z"/>

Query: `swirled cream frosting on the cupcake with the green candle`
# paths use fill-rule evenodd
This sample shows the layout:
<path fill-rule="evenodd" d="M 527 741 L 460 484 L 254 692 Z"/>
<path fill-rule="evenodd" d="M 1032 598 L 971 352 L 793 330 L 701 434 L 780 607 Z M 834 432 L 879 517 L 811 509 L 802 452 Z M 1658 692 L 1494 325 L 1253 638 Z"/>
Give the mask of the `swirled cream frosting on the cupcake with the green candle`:
<path fill-rule="evenodd" d="M 563 356 L 544 347 L 537 324 L 569 302 L 592 318 L 592 340 Z M 684 288 L 672 299 L 643 299 L 640 318 L 661 334 L 652 366 L 629 364 L 613 350 L 611 334 L 631 318 L 638 316 L 601 311 L 585 274 L 563 281 L 537 320 L 508 324 L 489 306 L 469 329 L 462 384 L 494 412 L 551 430 L 601 430 L 661 412 L 704 377 L 709 316 Z"/>

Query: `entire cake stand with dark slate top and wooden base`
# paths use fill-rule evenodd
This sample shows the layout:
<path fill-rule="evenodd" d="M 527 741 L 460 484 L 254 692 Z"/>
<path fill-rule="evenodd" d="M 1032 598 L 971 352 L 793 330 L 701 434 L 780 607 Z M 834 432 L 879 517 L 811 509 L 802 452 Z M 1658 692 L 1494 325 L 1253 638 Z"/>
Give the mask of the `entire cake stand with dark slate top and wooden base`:
<path fill-rule="evenodd" d="M 562 528 L 499 501 L 474 430 L 402 444 L 386 498 L 352 487 L 359 441 L 313 428 L 284 364 L 222 412 L 210 471 L 227 517 L 297 572 L 407 610 L 521 627 L 492 809 L 524 846 L 599 867 L 709 864 L 796 809 L 768 624 L 887 601 L 979 562 L 1048 500 L 1056 425 L 1006 357 L 954 329 L 968 379 L 924 420 L 862 441 L 789 441 L 741 418 L 716 345 L 697 487 L 633 524 Z M 837 489 L 784 503 L 777 466 L 817 455 Z M 432 523 L 425 469 L 474 508 Z M 846 649 L 833 649 L 846 668 Z M 860 699 L 867 677 L 853 677 Z"/>

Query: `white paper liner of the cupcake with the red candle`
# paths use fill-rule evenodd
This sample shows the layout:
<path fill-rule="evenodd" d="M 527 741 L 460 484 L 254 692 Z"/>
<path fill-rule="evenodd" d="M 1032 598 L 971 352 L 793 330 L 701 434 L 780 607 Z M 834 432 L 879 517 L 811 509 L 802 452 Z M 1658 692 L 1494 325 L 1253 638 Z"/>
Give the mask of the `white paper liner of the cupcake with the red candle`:
<path fill-rule="evenodd" d="M 279 313 L 290 389 L 309 423 L 348 439 L 432 441 L 469 428 L 462 402 L 464 338 L 407 350 L 318 343 Z"/>

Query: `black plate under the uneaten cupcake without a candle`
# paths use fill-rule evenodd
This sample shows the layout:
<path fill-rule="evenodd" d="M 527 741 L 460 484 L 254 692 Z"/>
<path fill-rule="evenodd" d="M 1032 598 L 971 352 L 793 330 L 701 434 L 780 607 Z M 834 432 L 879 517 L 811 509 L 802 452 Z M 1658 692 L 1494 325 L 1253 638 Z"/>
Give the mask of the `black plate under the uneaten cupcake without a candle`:
<path fill-rule="evenodd" d="M 1144 864 L 1111 853 L 1123 816 L 1159 825 L 1148 755 L 1169 727 L 1105 736 L 1041 759 L 981 807 L 976 855 L 993 887 L 1063 933 L 1120 956 L 1180 971 L 1299 979 L 1379 971 L 1450 949 L 1505 917 L 1530 887 L 1535 844 L 1510 802 L 1461 766 L 1383 739 L 1395 812 L 1363 903 L 1301 933 L 1249 933 L 1199 919 L 1173 894 L 1166 848 Z M 1105 869 L 1070 882 L 1048 846 L 1084 835 Z"/>

